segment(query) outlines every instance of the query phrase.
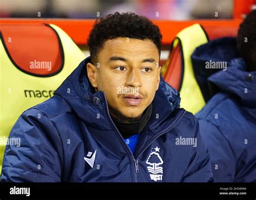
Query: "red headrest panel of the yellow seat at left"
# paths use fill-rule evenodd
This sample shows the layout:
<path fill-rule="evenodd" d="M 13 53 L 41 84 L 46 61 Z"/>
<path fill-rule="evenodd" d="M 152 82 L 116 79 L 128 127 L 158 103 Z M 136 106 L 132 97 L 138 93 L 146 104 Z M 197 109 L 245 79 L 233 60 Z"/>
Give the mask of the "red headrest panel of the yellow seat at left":
<path fill-rule="evenodd" d="M 51 75 L 62 68 L 64 59 L 62 44 L 51 26 L 1 25 L 0 31 L 5 51 L 20 70 L 33 75 Z M 47 68 L 34 70 L 30 66 L 31 61 L 34 60 L 50 62 L 51 70 Z"/>

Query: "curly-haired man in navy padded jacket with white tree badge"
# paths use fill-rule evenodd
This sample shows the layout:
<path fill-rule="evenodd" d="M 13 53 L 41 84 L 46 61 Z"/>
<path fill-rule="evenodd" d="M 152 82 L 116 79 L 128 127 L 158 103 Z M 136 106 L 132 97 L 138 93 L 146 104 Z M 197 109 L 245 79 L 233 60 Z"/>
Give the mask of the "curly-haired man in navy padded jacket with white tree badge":
<path fill-rule="evenodd" d="M 6 147 L 2 181 L 212 181 L 196 118 L 160 78 L 159 28 L 114 13 L 88 45 L 91 58 L 12 128 L 21 147 Z"/>

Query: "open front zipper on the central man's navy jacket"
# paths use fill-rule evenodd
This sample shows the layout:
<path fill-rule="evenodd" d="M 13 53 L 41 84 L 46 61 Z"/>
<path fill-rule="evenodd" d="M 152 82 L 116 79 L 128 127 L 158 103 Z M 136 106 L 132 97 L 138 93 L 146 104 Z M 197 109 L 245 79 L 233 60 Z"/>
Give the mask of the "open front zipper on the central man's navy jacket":
<path fill-rule="evenodd" d="M 123 138 L 122 134 L 118 131 L 116 125 L 114 124 L 114 122 L 113 122 L 113 120 L 112 120 L 112 118 L 111 118 L 111 116 L 110 116 L 109 105 L 107 104 L 107 99 L 106 99 L 106 96 L 105 96 L 104 92 L 103 92 L 103 95 L 104 95 L 104 97 L 105 97 L 106 108 L 107 108 L 107 114 L 109 115 L 109 118 L 110 118 L 112 124 L 113 124 L 114 127 L 116 128 L 118 134 L 120 135 L 120 137 L 122 138 L 122 140 L 123 140 L 123 142 L 124 142 L 124 144 L 125 144 L 125 141 L 124 141 L 124 138 Z M 91 98 L 91 96 L 90 96 L 90 98 Z M 163 134 L 165 134 L 165 133 L 171 131 L 172 128 L 174 128 L 174 127 L 179 123 L 180 119 L 183 118 L 183 116 L 185 115 L 185 113 L 186 113 L 186 110 L 183 112 L 183 114 L 182 114 L 181 117 L 177 120 L 177 122 L 176 122 L 171 128 L 169 128 L 169 130 L 167 130 L 167 131 L 165 131 L 165 132 L 159 134 L 156 138 L 154 138 L 154 139 L 143 149 L 143 151 L 140 152 L 140 154 L 138 155 L 138 158 L 137 158 L 137 159 L 135 159 L 135 157 L 134 157 L 134 155 L 133 155 L 133 153 L 132 153 L 130 147 L 125 144 L 125 146 L 129 149 L 129 151 L 130 151 L 130 153 L 131 153 L 131 156 L 132 156 L 132 159 L 133 159 L 133 162 L 134 162 L 134 168 L 135 168 L 134 177 L 135 177 L 135 182 L 138 182 L 137 173 L 139 173 L 139 157 L 140 157 L 140 156 L 146 151 L 146 149 L 149 148 L 149 146 L 150 146 L 155 140 L 157 140 L 161 135 L 163 135 Z"/>

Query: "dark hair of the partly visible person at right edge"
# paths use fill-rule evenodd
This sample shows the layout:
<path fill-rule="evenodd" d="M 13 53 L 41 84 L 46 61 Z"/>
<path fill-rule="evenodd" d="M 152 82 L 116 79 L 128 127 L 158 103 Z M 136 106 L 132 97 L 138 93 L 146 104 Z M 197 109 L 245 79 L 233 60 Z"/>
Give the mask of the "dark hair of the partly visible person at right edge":
<path fill-rule="evenodd" d="M 240 24 L 237 48 L 248 70 L 256 70 L 256 10 L 251 11 Z"/>

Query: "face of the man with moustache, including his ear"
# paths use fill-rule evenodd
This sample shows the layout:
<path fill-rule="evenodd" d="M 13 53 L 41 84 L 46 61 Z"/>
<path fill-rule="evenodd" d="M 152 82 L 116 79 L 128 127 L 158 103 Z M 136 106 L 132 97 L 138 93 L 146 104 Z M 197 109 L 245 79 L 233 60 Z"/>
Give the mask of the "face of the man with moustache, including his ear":
<path fill-rule="evenodd" d="M 104 91 L 110 108 L 123 116 L 141 116 L 153 101 L 160 82 L 156 45 L 150 40 L 107 40 L 97 60 L 96 65 L 87 64 L 92 86 Z"/>

